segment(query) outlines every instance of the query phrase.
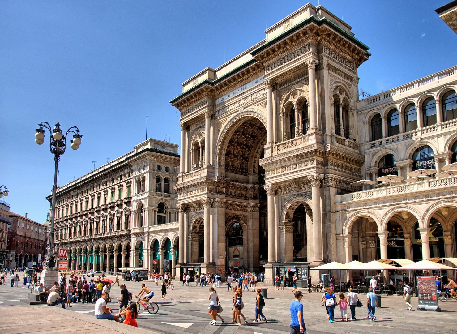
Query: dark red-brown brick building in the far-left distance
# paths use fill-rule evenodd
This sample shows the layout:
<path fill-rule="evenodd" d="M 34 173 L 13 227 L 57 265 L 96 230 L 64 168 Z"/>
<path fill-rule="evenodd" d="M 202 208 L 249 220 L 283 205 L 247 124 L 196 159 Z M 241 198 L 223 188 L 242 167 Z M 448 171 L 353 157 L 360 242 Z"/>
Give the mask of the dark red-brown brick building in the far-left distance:
<path fill-rule="evenodd" d="M 46 254 L 45 226 L 26 216 L 10 212 L 11 228 L 8 229 L 7 249 L 10 251 L 9 266 L 32 266 L 41 263 Z"/>

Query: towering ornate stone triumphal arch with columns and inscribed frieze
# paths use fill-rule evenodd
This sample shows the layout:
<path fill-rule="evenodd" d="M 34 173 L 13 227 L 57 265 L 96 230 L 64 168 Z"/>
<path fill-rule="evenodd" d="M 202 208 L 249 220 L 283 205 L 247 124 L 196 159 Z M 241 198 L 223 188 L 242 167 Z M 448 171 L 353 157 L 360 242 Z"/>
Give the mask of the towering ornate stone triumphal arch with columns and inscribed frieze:
<path fill-rule="evenodd" d="M 336 259 L 334 197 L 360 190 L 350 183 L 364 163 L 356 101 L 367 50 L 307 4 L 182 84 L 171 101 L 181 111 L 181 273 L 265 270 L 271 284 Z"/>

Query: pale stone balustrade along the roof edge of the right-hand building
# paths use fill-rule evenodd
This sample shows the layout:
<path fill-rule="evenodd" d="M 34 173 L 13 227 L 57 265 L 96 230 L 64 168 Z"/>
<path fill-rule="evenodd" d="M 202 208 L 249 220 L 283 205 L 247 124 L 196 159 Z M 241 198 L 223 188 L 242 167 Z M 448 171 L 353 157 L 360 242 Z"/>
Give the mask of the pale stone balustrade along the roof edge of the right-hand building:
<path fill-rule="evenodd" d="M 372 105 L 372 104 L 382 104 L 382 103 L 387 102 L 386 100 L 392 101 L 394 95 L 398 95 L 398 94 L 401 95 L 404 93 L 410 94 L 411 93 L 410 90 L 420 90 L 420 89 L 422 89 L 423 86 L 429 85 L 433 82 L 440 81 L 443 79 L 448 80 L 447 78 L 452 77 L 453 75 L 456 74 L 456 69 L 457 68 L 446 69 L 442 72 L 429 75 L 428 77 L 421 78 L 417 81 L 410 82 L 406 85 L 403 85 L 403 86 L 400 86 L 397 88 L 393 88 L 392 90 L 389 90 L 387 92 L 383 92 L 378 95 L 370 96 L 369 99 L 362 99 L 362 100 L 358 101 L 357 104 L 359 106 L 368 106 L 368 105 Z M 397 96 L 395 96 L 395 97 L 397 97 Z"/>

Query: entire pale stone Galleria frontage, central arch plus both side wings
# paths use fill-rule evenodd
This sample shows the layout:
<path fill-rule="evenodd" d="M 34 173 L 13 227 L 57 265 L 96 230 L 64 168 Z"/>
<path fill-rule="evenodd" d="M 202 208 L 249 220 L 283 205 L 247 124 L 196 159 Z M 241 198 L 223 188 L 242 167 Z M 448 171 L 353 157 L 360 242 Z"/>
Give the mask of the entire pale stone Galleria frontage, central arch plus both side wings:
<path fill-rule="evenodd" d="M 265 271 L 269 285 L 281 273 L 306 285 L 309 268 L 330 261 L 456 257 L 452 173 L 363 191 L 351 185 L 387 174 L 407 179 L 421 168 L 438 174 L 456 161 L 455 69 L 359 100 L 357 69 L 370 55 L 344 21 L 303 6 L 263 41 L 182 84 L 171 101 L 181 112 L 181 159 L 176 146 L 150 139 L 118 170 L 105 165 L 98 179 L 88 174 L 60 187 L 61 212 L 74 202 L 86 209 L 58 216 L 58 242 L 77 259 L 102 254 L 76 262 L 83 269 L 128 261 L 162 271 L 169 260 L 176 276 Z M 146 149 L 162 144 L 172 153 Z M 165 179 L 169 191 L 154 191 Z M 113 191 L 114 204 L 87 209 Z M 128 229 L 117 229 L 119 217 Z M 112 222 L 113 232 L 85 233 L 91 220 Z M 81 226 L 84 242 L 68 234 L 69 224 Z"/>

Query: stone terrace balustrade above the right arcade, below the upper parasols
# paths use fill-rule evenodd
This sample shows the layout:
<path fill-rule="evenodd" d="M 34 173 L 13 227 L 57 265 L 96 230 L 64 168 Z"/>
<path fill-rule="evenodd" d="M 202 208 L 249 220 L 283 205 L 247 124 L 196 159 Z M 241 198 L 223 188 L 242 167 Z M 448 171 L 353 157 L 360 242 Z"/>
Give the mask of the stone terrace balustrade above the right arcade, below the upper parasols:
<path fill-rule="evenodd" d="M 409 184 L 401 184 L 398 186 L 387 186 L 383 188 L 357 191 L 351 194 L 337 195 L 335 196 L 335 203 L 366 201 L 367 199 L 377 199 L 386 196 L 406 196 L 407 194 L 417 195 L 419 192 L 425 193 L 428 190 L 436 191 L 436 188 L 445 191 L 447 187 L 455 187 L 456 185 L 457 176 L 425 180 Z"/>

